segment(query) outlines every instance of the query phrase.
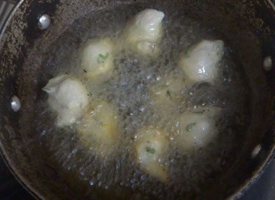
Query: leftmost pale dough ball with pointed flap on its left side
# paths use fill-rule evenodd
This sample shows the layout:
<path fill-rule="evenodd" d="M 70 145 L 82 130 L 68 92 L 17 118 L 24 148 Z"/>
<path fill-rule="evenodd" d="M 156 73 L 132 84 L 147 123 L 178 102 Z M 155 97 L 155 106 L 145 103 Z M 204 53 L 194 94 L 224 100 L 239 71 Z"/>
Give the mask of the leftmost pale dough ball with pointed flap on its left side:
<path fill-rule="evenodd" d="M 50 108 L 57 113 L 57 126 L 69 126 L 83 115 L 89 104 L 89 92 L 80 80 L 67 75 L 49 80 L 43 88 Z"/>

